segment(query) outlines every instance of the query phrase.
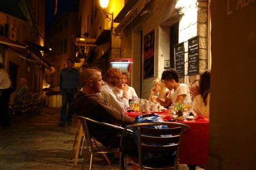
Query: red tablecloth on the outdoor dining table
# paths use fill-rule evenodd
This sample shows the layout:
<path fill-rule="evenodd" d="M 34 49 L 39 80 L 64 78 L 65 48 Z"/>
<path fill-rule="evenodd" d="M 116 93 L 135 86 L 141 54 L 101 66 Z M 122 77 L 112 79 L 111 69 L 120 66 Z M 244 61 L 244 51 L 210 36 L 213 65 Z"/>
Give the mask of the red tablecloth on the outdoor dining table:
<path fill-rule="evenodd" d="M 151 112 L 149 113 L 151 114 Z M 168 115 L 168 110 L 156 113 L 160 116 Z M 130 117 L 145 115 L 140 112 L 126 112 Z M 177 121 L 176 121 L 177 122 Z M 183 136 L 180 146 L 180 164 L 206 164 L 209 157 L 209 122 L 182 121 L 191 127 Z"/>

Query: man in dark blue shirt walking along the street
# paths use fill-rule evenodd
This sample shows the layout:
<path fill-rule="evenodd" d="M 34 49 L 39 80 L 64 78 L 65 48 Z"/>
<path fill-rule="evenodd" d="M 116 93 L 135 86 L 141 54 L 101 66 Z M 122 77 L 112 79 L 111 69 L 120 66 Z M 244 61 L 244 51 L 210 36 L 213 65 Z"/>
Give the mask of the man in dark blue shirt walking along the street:
<path fill-rule="evenodd" d="M 67 59 L 67 68 L 61 70 L 60 73 L 60 90 L 62 95 L 62 107 L 60 116 L 60 126 L 72 125 L 72 114 L 69 106 L 75 98 L 76 92 L 80 89 L 80 73 L 77 69 L 72 68 L 73 60 Z M 67 109 L 68 105 L 68 109 Z"/>

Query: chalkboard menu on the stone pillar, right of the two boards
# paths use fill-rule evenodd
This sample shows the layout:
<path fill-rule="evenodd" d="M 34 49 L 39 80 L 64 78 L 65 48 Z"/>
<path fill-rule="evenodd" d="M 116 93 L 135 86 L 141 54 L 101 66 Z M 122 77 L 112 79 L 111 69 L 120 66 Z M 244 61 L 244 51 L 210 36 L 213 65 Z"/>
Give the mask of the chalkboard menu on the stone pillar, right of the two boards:
<path fill-rule="evenodd" d="M 188 75 L 199 74 L 199 37 L 188 40 Z"/>

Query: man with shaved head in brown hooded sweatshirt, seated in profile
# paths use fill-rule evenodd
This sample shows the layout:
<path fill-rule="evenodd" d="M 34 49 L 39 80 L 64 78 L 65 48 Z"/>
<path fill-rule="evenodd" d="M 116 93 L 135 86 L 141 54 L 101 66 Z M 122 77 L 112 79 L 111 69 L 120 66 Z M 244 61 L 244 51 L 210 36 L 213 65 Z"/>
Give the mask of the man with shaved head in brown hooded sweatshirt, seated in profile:
<path fill-rule="evenodd" d="M 101 73 L 96 69 L 84 69 L 81 73 L 81 83 L 83 85 L 83 91 L 78 92 L 75 100 L 70 105 L 70 111 L 72 114 L 78 114 L 88 117 L 96 121 L 102 121 L 110 123 L 112 125 L 131 125 L 134 123 L 134 119 L 117 111 L 108 102 L 101 99 L 96 93 L 101 91 L 101 87 L 104 85 L 102 81 Z M 111 127 L 102 127 L 96 123 L 88 124 L 90 131 L 95 139 L 102 143 L 107 148 L 119 148 L 120 131 Z M 133 138 L 127 139 L 126 146 L 124 148 L 125 153 L 132 155 L 137 154 L 137 148 L 133 141 Z"/>

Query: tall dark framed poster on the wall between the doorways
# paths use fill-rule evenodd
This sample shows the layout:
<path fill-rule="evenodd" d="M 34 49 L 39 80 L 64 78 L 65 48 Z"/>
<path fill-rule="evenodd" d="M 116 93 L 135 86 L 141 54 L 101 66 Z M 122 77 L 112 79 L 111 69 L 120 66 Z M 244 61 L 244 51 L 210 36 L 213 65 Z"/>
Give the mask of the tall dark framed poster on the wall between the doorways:
<path fill-rule="evenodd" d="M 144 36 L 144 79 L 154 77 L 155 30 Z"/>

